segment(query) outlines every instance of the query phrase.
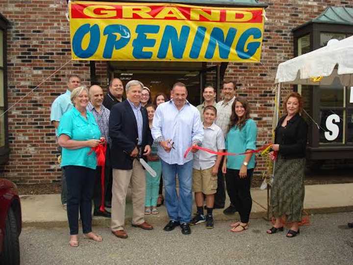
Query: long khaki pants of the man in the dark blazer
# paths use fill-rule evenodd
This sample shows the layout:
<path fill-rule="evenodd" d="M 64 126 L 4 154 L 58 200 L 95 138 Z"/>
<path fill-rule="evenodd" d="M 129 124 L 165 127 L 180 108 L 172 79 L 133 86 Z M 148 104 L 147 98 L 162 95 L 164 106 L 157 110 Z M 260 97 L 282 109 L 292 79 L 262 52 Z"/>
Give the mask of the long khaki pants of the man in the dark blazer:
<path fill-rule="evenodd" d="M 141 163 L 134 159 L 131 170 L 113 169 L 111 230 L 124 230 L 126 194 L 129 184 L 132 192 L 132 223 L 145 222 L 146 176 Z"/>

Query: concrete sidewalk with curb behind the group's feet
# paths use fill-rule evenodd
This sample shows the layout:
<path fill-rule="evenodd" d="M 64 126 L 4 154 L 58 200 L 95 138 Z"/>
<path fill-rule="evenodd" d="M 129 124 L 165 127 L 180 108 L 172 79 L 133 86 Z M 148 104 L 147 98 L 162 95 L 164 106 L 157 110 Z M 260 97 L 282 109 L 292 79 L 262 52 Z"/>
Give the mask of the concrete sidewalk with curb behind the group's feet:
<path fill-rule="evenodd" d="M 252 212 L 251 218 L 266 217 L 267 214 L 267 191 L 257 188 L 252 189 Z M 67 214 L 61 206 L 60 194 L 45 195 L 22 195 L 22 220 L 24 226 L 58 227 L 67 226 Z M 227 197 L 226 207 L 229 205 Z M 194 208 L 195 204 L 194 204 Z M 109 210 L 109 209 L 108 209 Z M 164 206 L 158 208 L 159 214 L 148 215 L 146 220 L 168 221 L 167 211 Z M 238 214 L 225 215 L 224 209 L 213 211 L 215 220 L 234 220 L 239 218 Z M 328 185 L 306 185 L 304 210 L 309 214 L 352 212 L 353 211 L 353 183 L 328 184 Z M 194 209 L 194 212 L 196 210 Z M 129 197 L 126 203 L 126 222 L 132 217 L 132 204 Z M 109 226 L 110 219 L 104 217 L 93 217 L 93 225 Z"/>

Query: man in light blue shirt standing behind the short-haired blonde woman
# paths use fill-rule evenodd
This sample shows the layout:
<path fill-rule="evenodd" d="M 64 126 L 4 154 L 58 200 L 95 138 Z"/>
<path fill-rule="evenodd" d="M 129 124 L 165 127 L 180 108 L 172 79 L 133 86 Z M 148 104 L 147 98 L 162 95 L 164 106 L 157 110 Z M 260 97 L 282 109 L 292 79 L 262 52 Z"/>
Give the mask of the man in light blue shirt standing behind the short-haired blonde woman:
<path fill-rule="evenodd" d="M 69 76 L 67 82 L 67 89 L 64 94 L 58 96 L 54 102 L 51 104 L 50 108 L 50 122 L 55 127 L 55 135 L 58 136 L 58 127 L 60 123 L 60 119 L 65 112 L 70 110 L 73 107 L 71 102 L 71 91 L 73 91 L 76 87 L 81 85 L 81 79 L 76 75 Z M 58 150 L 61 154 L 61 147 L 58 146 Z M 62 177 L 61 177 L 61 203 L 66 208 L 66 178 L 64 169 L 61 169 Z"/>

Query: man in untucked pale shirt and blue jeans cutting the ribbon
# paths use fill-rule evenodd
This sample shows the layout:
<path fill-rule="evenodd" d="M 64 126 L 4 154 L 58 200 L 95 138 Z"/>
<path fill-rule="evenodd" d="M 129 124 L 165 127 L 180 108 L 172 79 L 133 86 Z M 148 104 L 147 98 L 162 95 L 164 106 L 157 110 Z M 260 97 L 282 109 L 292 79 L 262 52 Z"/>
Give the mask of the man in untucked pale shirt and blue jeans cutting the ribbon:
<path fill-rule="evenodd" d="M 162 163 L 165 203 L 170 218 L 164 230 L 172 231 L 180 225 L 181 232 L 187 235 L 191 233 L 192 159 L 197 149 L 192 149 L 186 158 L 184 153 L 190 146 L 202 144 L 203 128 L 199 110 L 186 100 L 185 84 L 174 84 L 172 93 L 172 100 L 157 107 L 151 132 L 154 141 L 160 145 L 158 156 Z M 176 194 L 176 174 L 179 197 Z"/>

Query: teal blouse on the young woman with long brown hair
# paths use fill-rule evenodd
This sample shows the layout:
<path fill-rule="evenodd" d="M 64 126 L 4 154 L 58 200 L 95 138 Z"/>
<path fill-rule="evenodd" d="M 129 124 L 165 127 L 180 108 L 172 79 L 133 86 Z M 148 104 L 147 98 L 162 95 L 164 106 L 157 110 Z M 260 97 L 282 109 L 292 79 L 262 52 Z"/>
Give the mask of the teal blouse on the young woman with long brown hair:
<path fill-rule="evenodd" d="M 246 150 L 256 150 L 257 127 L 252 119 L 248 119 L 239 131 L 237 127 L 230 128 L 226 137 L 226 149 L 229 153 L 244 153 Z M 227 168 L 240 170 L 245 155 L 227 156 Z M 248 164 L 248 169 L 255 167 L 255 154 Z"/>

